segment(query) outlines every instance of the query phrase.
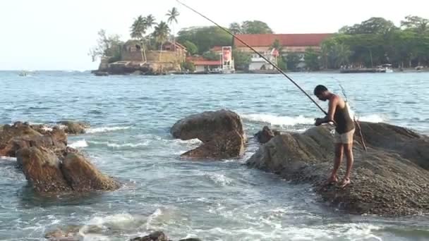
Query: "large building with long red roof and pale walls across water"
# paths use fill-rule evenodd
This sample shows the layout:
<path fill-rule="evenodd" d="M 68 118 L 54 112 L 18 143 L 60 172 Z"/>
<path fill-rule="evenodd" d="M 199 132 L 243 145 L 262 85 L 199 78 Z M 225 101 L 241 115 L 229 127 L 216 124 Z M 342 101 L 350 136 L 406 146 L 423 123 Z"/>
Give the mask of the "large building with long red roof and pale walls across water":
<path fill-rule="evenodd" d="M 273 63 L 277 63 L 278 51 L 272 49 L 272 44 L 278 39 L 282 47 L 282 55 L 287 56 L 287 53 L 296 53 L 301 56 L 301 61 L 304 61 L 304 53 L 306 49 L 320 49 L 320 44 L 323 40 L 331 37 L 330 33 L 322 34 L 264 34 L 264 35 L 238 35 L 238 37 L 246 42 L 256 51 L 260 52 L 265 58 Z M 251 49 L 246 47 L 240 41 L 234 39 L 234 45 L 237 50 L 252 54 L 249 70 L 272 70 L 272 66 L 267 63 L 258 54 L 255 54 Z M 305 66 L 300 63 L 300 67 Z"/>

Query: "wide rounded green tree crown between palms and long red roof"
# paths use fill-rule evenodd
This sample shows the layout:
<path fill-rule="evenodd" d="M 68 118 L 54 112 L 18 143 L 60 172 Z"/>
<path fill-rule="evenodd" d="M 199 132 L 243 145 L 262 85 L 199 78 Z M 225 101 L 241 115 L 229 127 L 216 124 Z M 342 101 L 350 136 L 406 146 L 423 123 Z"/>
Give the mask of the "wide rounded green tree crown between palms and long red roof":
<path fill-rule="evenodd" d="M 198 47 L 198 54 L 209 51 L 214 46 L 229 46 L 232 37 L 219 27 L 190 27 L 179 31 L 177 42 L 184 44 L 186 41 L 193 42 Z"/>

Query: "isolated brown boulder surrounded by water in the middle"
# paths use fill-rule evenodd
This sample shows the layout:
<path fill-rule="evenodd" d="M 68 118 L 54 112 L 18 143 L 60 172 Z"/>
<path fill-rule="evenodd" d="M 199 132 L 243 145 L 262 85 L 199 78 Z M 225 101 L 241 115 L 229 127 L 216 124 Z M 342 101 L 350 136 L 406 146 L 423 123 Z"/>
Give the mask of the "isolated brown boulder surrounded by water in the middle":
<path fill-rule="evenodd" d="M 170 130 L 181 140 L 199 139 L 203 144 L 182 154 L 196 159 L 226 159 L 241 156 L 246 136 L 240 116 L 232 111 L 207 111 L 178 121 Z"/>

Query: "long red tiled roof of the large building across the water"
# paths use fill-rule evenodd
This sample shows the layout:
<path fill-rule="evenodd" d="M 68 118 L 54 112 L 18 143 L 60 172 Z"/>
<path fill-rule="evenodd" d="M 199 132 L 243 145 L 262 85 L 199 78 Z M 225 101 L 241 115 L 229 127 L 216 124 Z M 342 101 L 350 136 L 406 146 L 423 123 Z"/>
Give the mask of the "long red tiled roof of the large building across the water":
<path fill-rule="evenodd" d="M 319 46 L 324 39 L 332 34 L 289 34 L 289 35 L 238 35 L 240 39 L 252 47 L 270 47 L 276 39 L 279 39 L 283 47 L 293 46 Z M 245 47 L 244 44 L 234 39 L 236 47 Z"/>

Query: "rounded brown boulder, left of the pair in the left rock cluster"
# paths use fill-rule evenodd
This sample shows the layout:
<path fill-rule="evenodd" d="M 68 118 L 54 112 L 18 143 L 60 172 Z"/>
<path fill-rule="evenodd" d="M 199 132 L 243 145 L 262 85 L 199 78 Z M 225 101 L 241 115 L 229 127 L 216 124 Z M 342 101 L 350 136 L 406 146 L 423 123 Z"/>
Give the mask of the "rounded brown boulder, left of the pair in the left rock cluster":
<path fill-rule="evenodd" d="M 37 192 L 71 191 L 60 169 L 56 154 L 43 147 L 18 150 L 17 162 L 22 165 L 25 178 Z"/>

